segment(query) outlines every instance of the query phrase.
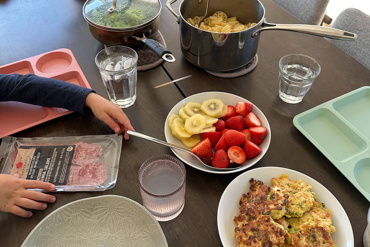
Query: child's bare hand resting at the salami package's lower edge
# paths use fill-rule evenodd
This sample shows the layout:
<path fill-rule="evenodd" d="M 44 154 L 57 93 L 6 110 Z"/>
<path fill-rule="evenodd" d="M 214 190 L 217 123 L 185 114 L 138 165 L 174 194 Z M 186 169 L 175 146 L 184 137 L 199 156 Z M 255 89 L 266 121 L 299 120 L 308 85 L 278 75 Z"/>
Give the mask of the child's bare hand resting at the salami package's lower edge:
<path fill-rule="evenodd" d="M 47 207 L 46 203 L 37 201 L 50 203 L 55 201 L 55 196 L 27 190 L 27 188 L 40 188 L 53 191 L 55 190 L 54 184 L 21 179 L 19 174 L 17 176 L 0 174 L 0 188 L 0 211 L 10 212 L 22 217 L 31 217 L 32 212 L 20 207 L 44 210 Z"/>

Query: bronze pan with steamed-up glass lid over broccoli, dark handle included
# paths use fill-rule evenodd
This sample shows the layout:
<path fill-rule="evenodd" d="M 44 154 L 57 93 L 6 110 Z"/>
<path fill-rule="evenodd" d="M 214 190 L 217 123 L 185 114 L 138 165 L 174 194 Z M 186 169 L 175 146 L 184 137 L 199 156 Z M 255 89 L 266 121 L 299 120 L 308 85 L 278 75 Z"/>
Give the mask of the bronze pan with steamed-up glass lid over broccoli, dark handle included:
<path fill-rule="evenodd" d="M 165 61 L 175 57 L 158 41 L 148 39 L 159 27 L 159 0 L 87 0 L 83 16 L 95 39 L 107 46 L 137 46 L 144 42 Z"/>

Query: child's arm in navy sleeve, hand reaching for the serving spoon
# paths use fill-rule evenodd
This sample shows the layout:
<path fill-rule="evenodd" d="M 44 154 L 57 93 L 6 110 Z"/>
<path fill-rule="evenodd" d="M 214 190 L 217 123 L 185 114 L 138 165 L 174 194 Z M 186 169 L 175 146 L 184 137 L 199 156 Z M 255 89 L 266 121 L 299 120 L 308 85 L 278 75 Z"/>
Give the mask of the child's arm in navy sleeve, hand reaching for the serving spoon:
<path fill-rule="evenodd" d="M 19 101 L 45 107 L 60 107 L 79 113 L 85 106 L 116 134 L 134 130 L 122 109 L 91 89 L 34 74 L 0 74 L 0 101 Z M 117 119 L 118 123 L 114 120 Z M 128 134 L 124 134 L 128 139 Z"/>

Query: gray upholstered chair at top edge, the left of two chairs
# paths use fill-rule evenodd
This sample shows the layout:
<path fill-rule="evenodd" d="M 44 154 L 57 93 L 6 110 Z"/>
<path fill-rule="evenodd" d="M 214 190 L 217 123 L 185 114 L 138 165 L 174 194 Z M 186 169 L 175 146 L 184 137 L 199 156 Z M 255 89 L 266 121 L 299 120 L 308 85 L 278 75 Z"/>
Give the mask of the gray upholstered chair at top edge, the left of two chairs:
<path fill-rule="evenodd" d="M 320 25 L 329 0 L 273 0 L 305 24 Z"/>

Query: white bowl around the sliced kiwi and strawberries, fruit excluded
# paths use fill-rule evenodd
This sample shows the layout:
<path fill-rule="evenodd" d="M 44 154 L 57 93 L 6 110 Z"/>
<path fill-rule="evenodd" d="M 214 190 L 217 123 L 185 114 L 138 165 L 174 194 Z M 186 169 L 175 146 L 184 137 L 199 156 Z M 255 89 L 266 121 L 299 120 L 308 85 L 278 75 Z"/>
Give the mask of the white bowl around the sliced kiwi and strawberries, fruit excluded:
<path fill-rule="evenodd" d="M 169 143 L 175 144 L 177 146 L 184 147 L 188 150 L 191 150 L 191 148 L 185 147 L 184 144 L 182 144 L 181 140 L 179 140 L 178 138 L 176 138 L 172 134 L 172 132 L 171 132 L 169 126 L 168 126 L 168 121 L 167 120 L 168 120 L 169 116 L 171 116 L 172 114 L 178 115 L 180 108 L 182 106 L 185 106 L 186 103 L 188 103 L 188 102 L 202 103 L 204 100 L 208 100 L 208 99 L 212 99 L 212 98 L 213 99 L 220 99 L 220 100 L 222 100 L 222 102 L 224 104 L 226 104 L 228 106 L 235 106 L 235 104 L 237 102 L 252 103 L 252 102 L 250 102 L 250 101 L 248 101 L 248 100 L 246 100 L 242 97 L 236 96 L 235 94 L 223 93 L 223 92 L 205 92 L 205 93 L 198 93 L 198 94 L 194 94 L 192 96 L 189 96 L 189 97 L 185 98 L 184 100 L 181 100 L 179 103 L 177 103 L 171 109 L 171 111 L 169 111 L 169 113 L 167 115 L 167 118 L 166 118 L 165 125 L 164 125 L 164 134 L 165 134 L 165 137 L 166 137 L 166 141 L 169 142 Z M 172 150 L 172 152 L 174 152 L 174 154 L 180 160 L 184 161 L 189 166 L 192 166 L 192 167 L 194 167 L 198 170 L 201 170 L 201 171 L 206 171 L 206 172 L 209 172 L 209 173 L 235 173 L 235 172 L 238 172 L 238 171 L 245 170 L 248 167 L 251 167 L 254 164 L 256 164 L 265 155 L 265 153 L 267 152 L 267 150 L 270 146 L 270 141 L 271 141 L 271 130 L 270 130 L 269 122 L 266 119 L 266 116 L 262 113 L 262 111 L 260 109 L 258 109 L 258 107 L 255 106 L 255 104 L 253 104 L 252 112 L 254 114 L 256 114 L 257 117 L 259 117 L 259 119 L 261 120 L 262 126 L 267 128 L 268 134 L 263 139 L 263 142 L 259 145 L 259 147 L 262 150 L 261 153 L 258 156 L 254 157 L 250 160 L 246 160 L 242 164 L 242 167 L 240 167 L 238 169 L 225 170 L 225 171 L 214 170 L 210 167 L 205 166 L 204 164 L 202 164 L 199 160 L 197 160 L 195 157 L 191 156 L 190 154 L 187 154 L 185 152 L 176 150 L 174 148 L 171 148 L 171 150 Z"/>

